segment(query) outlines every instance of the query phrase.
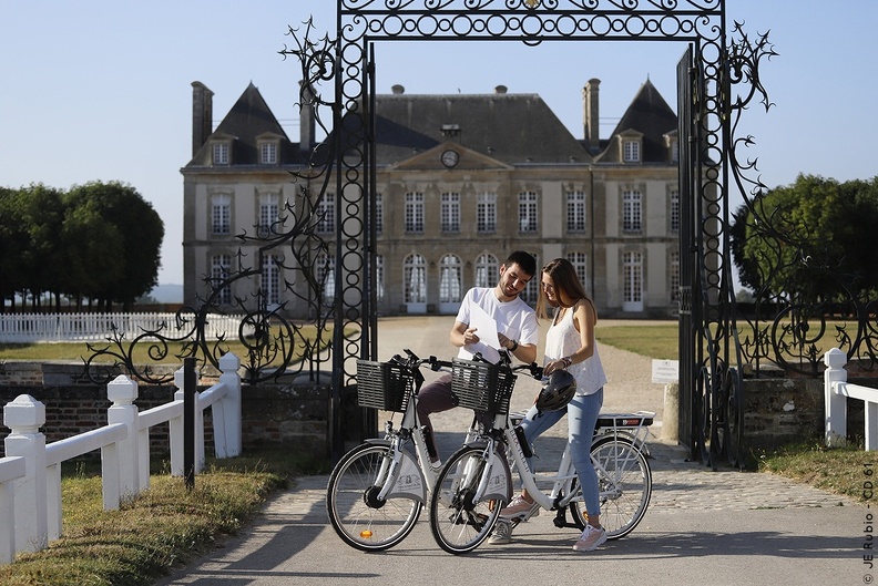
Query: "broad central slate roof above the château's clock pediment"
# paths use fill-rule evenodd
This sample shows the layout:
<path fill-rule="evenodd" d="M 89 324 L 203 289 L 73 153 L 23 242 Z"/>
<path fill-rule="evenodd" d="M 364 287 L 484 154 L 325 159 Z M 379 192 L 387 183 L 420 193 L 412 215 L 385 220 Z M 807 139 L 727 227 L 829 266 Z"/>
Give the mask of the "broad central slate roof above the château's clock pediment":
<path fill-rule="evenodd" d="M 379 165 L 446 142 L 511 165 L 592 158 L 537 94 L 377 95 L 376 142 Z"/>

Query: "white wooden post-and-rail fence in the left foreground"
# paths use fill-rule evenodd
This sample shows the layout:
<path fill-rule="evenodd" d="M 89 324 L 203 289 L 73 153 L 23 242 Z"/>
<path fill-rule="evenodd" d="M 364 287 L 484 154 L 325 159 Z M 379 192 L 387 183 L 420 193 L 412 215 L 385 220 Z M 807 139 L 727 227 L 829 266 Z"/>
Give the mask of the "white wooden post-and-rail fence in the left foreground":
<path fill-rule="evenodd" d="M 204 410 L 212 408 L 217 458 L 241 453 L 241 360 L 232 353 L 220 359 L 220 381 L 195 393 L 195 470 L 204 466 Z M 0 564 L 18 552 L 37 552 L 61 536 L 61 463 L 101 450 L 103 507 L 119 508 L 150 485 L 150 428 L 169 422 L 171 474 L 182 476 L 183 369 L 174 377 L 174 400 L 140 412 L 137 383 L 116 377 L 106 388 L 112 405 L 108 424 L 45 444 L 40 428 L 45 405 L 21 394 L 3 407 L 3 424 L 11 430 L 0 459 Z"/>

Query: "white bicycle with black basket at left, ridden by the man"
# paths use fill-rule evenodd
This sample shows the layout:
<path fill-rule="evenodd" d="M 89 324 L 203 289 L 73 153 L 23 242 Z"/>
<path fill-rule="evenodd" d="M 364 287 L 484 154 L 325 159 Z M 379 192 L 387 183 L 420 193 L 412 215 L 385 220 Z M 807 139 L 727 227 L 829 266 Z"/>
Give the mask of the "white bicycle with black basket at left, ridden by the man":
<path fill-rule="evenodd" d="M 326 487 L 333 527 L 341 541 L 364 552 L 388 549 L 408 536 L 438 473 L 430 466 L 427 428 L 418 424 L 417 393 L 421 367 L 438 371 L 451 362 L 405 352 L 408 358 L 397 354 L 387 362 L 357 361 L 358 404 L 404 415 L 398 429 L 387 421 L 382 439 L 366 440 L 341 456 Z"/>

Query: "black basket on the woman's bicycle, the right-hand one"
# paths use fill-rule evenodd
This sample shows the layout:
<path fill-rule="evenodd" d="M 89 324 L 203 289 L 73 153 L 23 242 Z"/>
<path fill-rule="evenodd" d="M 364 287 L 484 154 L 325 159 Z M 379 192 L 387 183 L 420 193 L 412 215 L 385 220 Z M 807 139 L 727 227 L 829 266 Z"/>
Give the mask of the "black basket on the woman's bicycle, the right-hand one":
<path fill-rule="evenodd" d="M 459 407 L 504 415 L 514 385 L 515 374 L 507 368 L 457 358 L 451 361 L 451 392 Z"/>

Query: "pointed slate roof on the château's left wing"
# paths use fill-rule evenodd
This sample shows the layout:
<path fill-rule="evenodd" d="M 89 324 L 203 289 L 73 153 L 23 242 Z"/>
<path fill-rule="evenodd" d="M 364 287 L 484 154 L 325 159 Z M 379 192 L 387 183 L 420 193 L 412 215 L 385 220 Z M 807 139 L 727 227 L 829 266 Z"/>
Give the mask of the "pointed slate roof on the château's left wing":
<path fill-rule="evenodd" d="M 298 151 L 298 144 L 294 145 L 277 122 L 259 90 L 253 85 L 247 85 L 237 102 L 232 106 L 226 116 L 214 130 L 204 145 L 195 153 L 192 161 L 186 165 L 207 166 L 211 165 L 211 137 L 227 136 L 233 138 L 231 161 L 233 167 L 242 165 L 256 166 L 258 160 L 258 140 L 266 136 L 279 137 L 278 164 L 302 164 L 303 158 Z"/>

